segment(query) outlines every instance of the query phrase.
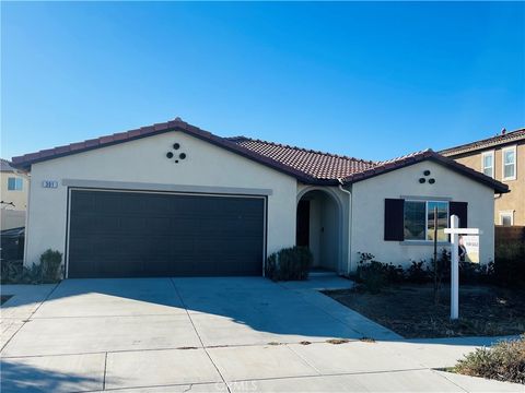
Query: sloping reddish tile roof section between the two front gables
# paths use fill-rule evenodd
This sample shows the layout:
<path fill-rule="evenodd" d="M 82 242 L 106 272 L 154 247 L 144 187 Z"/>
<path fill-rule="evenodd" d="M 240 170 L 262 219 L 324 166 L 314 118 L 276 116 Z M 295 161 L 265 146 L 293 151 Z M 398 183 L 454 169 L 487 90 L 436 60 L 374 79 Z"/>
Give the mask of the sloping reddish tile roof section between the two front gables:
<path fill-rule="evenodd" d="M 315 179 L 342 179 L 375 165 L 370 160 L 253 140 L 246 136 L 226 138 L 226 140 Z"/>

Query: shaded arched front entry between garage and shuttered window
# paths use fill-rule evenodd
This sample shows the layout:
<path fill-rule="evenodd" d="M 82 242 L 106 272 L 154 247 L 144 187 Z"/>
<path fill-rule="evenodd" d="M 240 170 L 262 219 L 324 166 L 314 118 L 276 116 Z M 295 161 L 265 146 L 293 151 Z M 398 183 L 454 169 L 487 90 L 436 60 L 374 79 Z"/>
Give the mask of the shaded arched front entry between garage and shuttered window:
<path fill-rule="evenodd" d="M 314 271 L 340 271 L 342 214 L 336 198 L 322 189 L 313 189 L 298 201 L 295 243 L 310 248 Z"/>

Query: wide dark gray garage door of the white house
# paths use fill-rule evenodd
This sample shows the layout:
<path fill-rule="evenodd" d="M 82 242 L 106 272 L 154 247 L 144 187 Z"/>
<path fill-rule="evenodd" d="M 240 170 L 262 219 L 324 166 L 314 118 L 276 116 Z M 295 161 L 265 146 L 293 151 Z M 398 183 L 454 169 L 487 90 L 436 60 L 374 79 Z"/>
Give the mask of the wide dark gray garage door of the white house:
<path fill-rule="evenodd" d="M 72 190 L 68 276 L 261 275 L 262 198 Z"/>

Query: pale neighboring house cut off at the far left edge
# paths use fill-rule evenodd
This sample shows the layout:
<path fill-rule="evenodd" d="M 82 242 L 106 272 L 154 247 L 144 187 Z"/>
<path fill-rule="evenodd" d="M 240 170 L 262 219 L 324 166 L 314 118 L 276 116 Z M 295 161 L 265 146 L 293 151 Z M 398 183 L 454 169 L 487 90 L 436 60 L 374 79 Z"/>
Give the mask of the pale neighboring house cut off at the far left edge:
<path fill-rule="evenodd" d="M 0 229 L 25 226 L 27 210 L 27 174 L 14 168 L 10 162 L 0 158 Z"/>

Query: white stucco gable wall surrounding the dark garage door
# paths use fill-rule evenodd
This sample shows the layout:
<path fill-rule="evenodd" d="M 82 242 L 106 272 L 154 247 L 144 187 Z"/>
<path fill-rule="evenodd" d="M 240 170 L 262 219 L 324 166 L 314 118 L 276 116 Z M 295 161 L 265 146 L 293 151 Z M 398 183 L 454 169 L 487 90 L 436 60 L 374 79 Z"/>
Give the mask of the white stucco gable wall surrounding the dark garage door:
<path fill-rule="evenodd" d="M 178 152 L 187 154 L 179 164 L 166 158 L 175 142 L 180 144 Z M 26 264 L 38 261 L 48 248 L 65 251 L 68 193 L 63 179 L 271 189 L 267 251 L 295 243 L 294 178 L 174 131 L 33 165 Z M 59 187 L 45 189 L 43 180 L 57 180 Z"/>

